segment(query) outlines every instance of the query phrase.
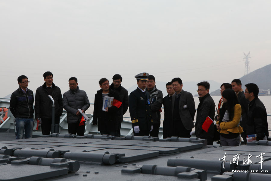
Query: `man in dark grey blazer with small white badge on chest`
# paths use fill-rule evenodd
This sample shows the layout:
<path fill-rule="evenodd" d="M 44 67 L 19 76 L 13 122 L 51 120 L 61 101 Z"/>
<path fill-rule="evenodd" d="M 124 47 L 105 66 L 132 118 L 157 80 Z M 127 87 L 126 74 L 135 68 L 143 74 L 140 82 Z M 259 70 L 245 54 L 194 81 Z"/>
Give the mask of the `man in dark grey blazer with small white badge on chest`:
<path fill-rule="evenodd" d="M 195 102 L 190 92 L 182 90 L 182 79 L 173 78 L 173 90 L 176 92 L 172 98 L 172 118 L 173 124 L 172 136 L 181 138 L 190 138 L 194 125 L 194 116 L 196 113 Z"/>

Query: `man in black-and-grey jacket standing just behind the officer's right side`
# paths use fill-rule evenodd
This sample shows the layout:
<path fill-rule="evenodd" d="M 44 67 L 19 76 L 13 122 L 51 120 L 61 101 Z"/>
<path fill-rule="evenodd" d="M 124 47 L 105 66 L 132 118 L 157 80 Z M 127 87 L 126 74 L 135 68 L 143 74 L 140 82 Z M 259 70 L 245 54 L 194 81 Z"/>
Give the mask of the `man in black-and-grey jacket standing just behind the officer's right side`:
<path fill-rule="evenodd" d="M 155 77 L 153 75 L 148 76 L 147 88 L 145 91 L 148 91 L 150 94 L 151 101 L 151 118 L 153 120 L 152 125 L 153 129 L 150 132 L 150 136 L 158 137 L 159 127 L 161 124 L 161 107 L 163 105 L 163 93 L 161 90 L 158 90 L 155 85 Z"/>

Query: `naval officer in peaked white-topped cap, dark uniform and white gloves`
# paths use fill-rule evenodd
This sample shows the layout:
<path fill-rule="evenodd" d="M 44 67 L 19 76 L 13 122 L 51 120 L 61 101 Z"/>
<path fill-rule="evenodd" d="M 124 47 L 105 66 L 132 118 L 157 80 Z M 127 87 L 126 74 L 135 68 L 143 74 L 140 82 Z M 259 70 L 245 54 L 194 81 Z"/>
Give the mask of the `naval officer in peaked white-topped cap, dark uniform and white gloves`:
<path fill-rule="evenodd" d="M 150 95 L 145 91 L 148 73 L 135 76 L 138 87 L 129 95 L 129 112 L 135 136 L 148 136 L 152 130 Z"/>

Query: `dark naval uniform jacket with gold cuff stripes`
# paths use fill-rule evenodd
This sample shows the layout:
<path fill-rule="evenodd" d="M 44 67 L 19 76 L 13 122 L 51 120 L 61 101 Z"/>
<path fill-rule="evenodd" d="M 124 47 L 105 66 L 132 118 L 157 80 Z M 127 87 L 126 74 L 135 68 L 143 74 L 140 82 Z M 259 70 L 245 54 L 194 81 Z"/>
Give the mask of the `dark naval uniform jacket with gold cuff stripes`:
<path fill-rule="evenodd" d="M 146 95 L 145 95 L 146 93 Z M 136 88 L 129 95 L 129 112 L 132 126 L 139 126 L 140 131 L 151 130 L 151 107 L 149 93 Z"/>

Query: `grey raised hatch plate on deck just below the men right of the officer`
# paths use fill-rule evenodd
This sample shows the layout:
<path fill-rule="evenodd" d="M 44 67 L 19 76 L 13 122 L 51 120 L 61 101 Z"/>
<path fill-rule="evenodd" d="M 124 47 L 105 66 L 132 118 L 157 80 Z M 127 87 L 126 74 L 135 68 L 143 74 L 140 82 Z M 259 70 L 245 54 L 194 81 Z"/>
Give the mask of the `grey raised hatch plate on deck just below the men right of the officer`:
<path fill-rule="evenodd" d="M 150 143 L 142 143 L 136 144 L 134 146 L 152 146 L 152 147 L 167 147 L 167 148 L 178 148 L 179 151 L 187 151 L 197 148 L 202 148 L 203 143 L 188 143 L 188 142 L 150 142 Z"/>

